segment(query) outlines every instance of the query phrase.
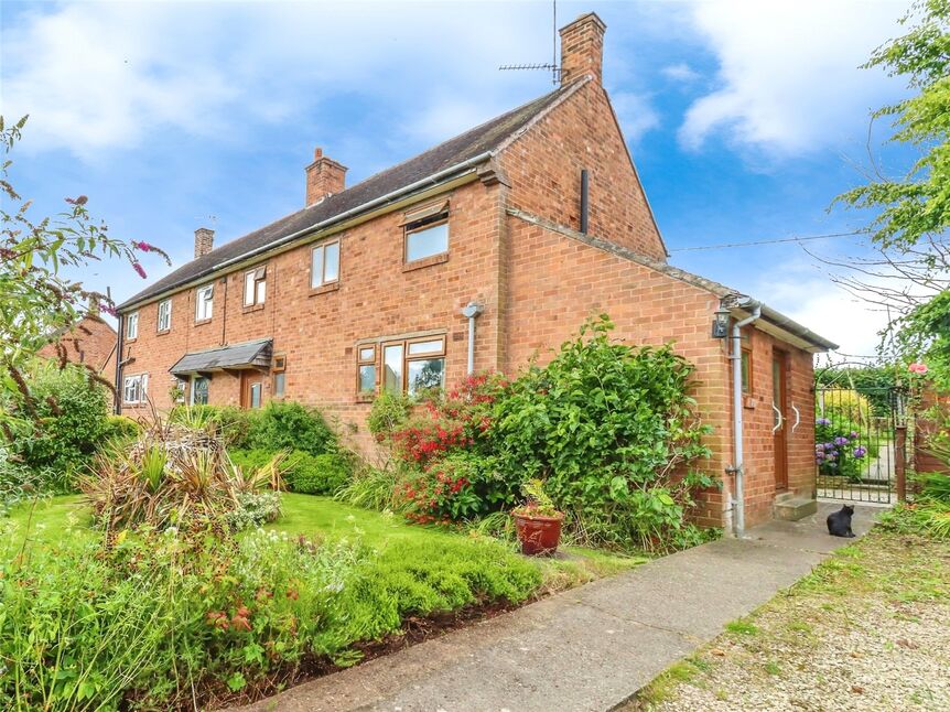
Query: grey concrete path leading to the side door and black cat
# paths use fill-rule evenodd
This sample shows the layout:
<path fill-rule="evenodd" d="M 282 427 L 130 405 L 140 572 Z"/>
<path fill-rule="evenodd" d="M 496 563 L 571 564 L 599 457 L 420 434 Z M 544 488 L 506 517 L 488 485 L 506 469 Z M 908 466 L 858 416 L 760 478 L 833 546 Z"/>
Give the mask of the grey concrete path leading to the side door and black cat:
<path fill-rule="evenodd" d="M 801 521 L 773 521 L 651 561 L 469 628 L 306 682 L 255 712 L 604 712 L 719 635 L 723 626 L 849 543 L 829 537 L 822 503 Z M 875 508 L 857 508 L 854 530 Z"/>

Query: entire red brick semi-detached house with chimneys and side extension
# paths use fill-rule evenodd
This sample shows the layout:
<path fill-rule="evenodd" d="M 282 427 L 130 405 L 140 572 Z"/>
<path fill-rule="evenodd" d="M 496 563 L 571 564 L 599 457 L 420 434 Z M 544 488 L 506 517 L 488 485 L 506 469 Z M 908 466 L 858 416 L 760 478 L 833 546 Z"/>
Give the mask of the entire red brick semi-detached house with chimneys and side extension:
<path fill-rule="evenodd" d="M 194 260 L 119 308 L 117 408 L 298 400 L 368 447 L 380 391 L 515 373 L 607 313 L 616 337 L 697 366 L 725 481 L 701 521 L 806 511 L 812 354 L 834 344 L 667 263 L 601 82 L 604 31 L 593 13 L 561 30 L 546 96 L 352 187 L 317 149 L 302 209 L 217 248 L 198 229 Z"/>

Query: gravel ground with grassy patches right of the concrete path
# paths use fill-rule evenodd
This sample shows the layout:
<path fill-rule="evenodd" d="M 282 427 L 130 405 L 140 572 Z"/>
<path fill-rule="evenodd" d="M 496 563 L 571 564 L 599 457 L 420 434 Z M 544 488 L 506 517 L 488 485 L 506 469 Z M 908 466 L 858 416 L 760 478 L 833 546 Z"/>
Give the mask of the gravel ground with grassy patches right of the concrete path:
<path fill-rule="evenodd" d="M 950 711 L 950 544 L 872 531 L 626 710 Z"/>

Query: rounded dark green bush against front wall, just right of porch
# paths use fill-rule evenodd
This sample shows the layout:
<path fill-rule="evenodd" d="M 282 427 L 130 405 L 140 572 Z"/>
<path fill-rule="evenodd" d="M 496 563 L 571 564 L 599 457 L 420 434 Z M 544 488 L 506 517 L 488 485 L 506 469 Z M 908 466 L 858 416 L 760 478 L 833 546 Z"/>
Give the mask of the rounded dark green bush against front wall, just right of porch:
<path fill-rule="evenodd" d="M 336 451 L 336 436 L 319 410 L 293 401 L 271 401 L 251 419 L 246 446 L 323 455 Z"/>

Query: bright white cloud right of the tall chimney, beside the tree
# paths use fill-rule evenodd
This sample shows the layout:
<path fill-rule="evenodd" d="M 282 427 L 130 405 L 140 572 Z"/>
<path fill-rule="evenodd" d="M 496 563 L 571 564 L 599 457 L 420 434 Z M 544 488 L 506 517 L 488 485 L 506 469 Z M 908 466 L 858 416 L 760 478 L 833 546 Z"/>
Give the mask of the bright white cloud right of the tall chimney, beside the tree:
<path fill-rule="evenodd" d="M 857 67 L 902 32 L 905 11 L 894 1 L 694 2 L 692 23 L 719 60 L 721 86 L 689 108 L 680 141 L 699 149 L 723 132 L 788 155 L 863 133 L 887 79 Z"/>

